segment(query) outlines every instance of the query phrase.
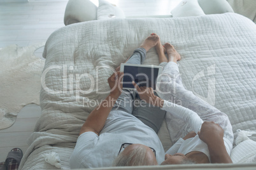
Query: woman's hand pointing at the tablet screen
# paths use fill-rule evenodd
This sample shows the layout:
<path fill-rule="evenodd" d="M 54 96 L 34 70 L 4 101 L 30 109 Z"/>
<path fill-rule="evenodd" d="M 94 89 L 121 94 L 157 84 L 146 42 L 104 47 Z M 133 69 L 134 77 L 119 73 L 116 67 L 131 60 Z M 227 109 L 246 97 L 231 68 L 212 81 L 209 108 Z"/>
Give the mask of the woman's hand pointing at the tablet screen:
<path fill-rule="evenodd" d="M 132 84 L 138 91 L 139 98 L 141 98 L 141 100 L 145 100 L 146 103 L 157 107 L 162 107 L 164 105 L 164 100 L 162 100 L 158 96 L 155 96 L 152 88 L 146 88 L 145 86 L 139 87 L 134 81 L 132 82 Z"/>

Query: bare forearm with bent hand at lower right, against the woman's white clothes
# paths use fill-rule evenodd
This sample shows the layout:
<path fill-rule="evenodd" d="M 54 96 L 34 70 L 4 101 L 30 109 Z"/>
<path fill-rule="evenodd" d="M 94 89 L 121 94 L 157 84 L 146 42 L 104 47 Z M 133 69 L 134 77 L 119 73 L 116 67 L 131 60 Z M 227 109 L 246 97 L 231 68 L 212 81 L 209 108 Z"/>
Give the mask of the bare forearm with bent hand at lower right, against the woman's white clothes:
<path fill-rule="evenodd" d="M 232 163 L 224 145 L 224 130 L 214 122 L 204 122 L 199 138 L 208 145 L 211 163 Z"/>

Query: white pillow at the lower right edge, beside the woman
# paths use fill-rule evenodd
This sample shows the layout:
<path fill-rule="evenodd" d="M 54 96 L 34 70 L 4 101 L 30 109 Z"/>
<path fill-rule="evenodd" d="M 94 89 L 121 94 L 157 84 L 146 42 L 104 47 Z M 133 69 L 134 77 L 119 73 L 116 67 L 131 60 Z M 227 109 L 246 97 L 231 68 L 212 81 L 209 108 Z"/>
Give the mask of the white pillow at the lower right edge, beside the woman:
<path fill-rule="evenodd" d="M 245 140 L 231 152 L 231 159 L 234 163 L 250 163 L 256 162 L 256 142 L 253 140 Z"/>

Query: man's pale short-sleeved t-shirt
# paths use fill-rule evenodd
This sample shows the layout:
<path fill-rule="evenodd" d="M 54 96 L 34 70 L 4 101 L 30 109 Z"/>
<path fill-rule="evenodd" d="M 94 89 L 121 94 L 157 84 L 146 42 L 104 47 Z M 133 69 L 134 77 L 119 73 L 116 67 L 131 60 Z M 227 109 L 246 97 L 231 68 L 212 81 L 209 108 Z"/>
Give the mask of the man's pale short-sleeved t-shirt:
<path fill-rule="evenodd" d="M 152 128 L 131 114 L 120 110 L 110 112 L 99 136 L 86 132 L 78 137 L 69 160 L 72 169 L 109 167 L 122 143 L 139 143 L 155 149 L 157 162 L 164 161 L 164 148 Z"/>

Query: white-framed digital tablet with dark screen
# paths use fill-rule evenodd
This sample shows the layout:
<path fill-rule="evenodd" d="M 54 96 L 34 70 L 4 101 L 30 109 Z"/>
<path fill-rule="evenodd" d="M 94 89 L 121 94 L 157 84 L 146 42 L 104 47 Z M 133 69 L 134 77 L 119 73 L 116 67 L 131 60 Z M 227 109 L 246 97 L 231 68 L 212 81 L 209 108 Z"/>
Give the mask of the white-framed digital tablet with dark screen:
<path fill-rule="evenodd" d="M 123 89 L 134 89 L 132 84 L 132 81 L 134 81 L 139 87 L 146 86 L 155 90 L 157 77 L 162 73 L 162 67 L 122 63 L 120 72 L 124 72 Z"/>

